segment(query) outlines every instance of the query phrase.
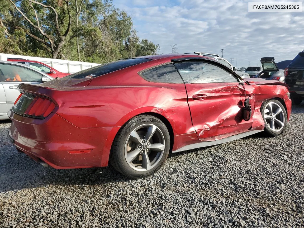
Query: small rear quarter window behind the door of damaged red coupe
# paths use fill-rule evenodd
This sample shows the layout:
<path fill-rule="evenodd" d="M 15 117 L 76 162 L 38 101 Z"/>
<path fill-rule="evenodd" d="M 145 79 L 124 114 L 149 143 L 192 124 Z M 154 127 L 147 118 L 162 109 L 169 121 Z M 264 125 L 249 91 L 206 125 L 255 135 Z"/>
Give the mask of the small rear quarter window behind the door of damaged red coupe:
<path fill-rule="evenodd" d="M 147 81 L 153 82 L 184 83 L 173 64 L 162 65 L 143 71 L 141 76 Z"/>

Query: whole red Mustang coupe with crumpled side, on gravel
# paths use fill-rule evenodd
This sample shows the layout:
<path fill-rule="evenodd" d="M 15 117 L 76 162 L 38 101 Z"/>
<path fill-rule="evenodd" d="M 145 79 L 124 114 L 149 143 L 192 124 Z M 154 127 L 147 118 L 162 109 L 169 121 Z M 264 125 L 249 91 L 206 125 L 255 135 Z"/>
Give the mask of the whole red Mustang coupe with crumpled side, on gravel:
<path fill-rule="evenodd" d="M 40 85 L 20 84 L 9 139 L 44 166 L 153 174 L 173 153 L 257 132 L 281 134 L 288 86 L 247 78 L 209 57 L 167 54 L 99 65 Z"/>

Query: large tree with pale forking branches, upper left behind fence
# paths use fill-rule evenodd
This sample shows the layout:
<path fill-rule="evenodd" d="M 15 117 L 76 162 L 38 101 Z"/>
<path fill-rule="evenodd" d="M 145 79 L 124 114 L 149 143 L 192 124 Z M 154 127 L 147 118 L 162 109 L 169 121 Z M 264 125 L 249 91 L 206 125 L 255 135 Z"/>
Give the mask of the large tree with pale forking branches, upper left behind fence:
<path fill-rule="evenodd" d="M 43 1 L 8 0 L 12 7 L 11 17 L 2 19 L 2 23 L 11 30 L 21 30 L 27 36 L 44 44 L 47 51 L 57 58 L 60 48 L 71 30 L 71 5 L 69 0 Z M 60 54 L 61 57 L 64 57 Z"/>

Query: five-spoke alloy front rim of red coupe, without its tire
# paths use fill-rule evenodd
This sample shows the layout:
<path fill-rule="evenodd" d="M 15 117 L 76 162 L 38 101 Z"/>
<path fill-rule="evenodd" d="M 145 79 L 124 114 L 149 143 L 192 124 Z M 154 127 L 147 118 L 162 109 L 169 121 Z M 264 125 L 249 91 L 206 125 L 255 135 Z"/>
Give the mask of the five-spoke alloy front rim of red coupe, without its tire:
<path fill-rule="evenodd" d="M 264 109 L 265 123 L 273 131 L 280 131 L 285 125 L 285 117 L 282 108 L 275 102 L 269 102 Z"/>

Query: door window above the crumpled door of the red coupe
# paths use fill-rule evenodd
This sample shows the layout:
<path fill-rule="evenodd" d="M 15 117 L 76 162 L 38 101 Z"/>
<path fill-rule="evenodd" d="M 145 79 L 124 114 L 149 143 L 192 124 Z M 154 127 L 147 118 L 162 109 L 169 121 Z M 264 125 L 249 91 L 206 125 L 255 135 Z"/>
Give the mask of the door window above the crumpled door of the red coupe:
<path fill-rule="evenodd" d="M 224 69 L 202 61 L 175 63 L 185 83 L 238 82 L 237 78 Z"/>

